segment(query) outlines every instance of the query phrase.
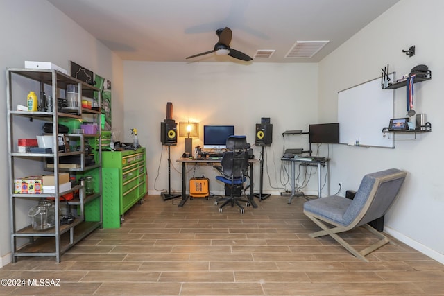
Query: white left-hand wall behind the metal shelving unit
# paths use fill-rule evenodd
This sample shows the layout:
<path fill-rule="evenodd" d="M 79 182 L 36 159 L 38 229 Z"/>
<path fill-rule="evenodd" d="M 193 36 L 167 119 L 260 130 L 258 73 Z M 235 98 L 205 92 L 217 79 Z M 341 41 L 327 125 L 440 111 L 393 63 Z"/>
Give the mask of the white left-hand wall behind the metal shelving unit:
<path fill-rule="evenodd" d="M 103 44 L 67 18 L 46 0 L 0 1 L 0 114 L 6 126 L 6 76 L 8 67 L 23 68 L 25 60 L 53 62 L 69 69 L 69 60 L 112 81 L 115 110 L 123 100 L 123 63 Z M 115 105 L 114 105 L 115 104 Z M 120 106 L 120 109 L 119 109 Z M 123 113 L 113 112 L 113 123 L 123 126 Z M 7 143 L 7 131 L 0 129 L 0 141 Z M 8 164 L 6 145 L 0 162 Z M 0 168 L 0 267 L 10 262 L 9 168 Z M 27 213 L 28 209 L 20 209 Z"/>

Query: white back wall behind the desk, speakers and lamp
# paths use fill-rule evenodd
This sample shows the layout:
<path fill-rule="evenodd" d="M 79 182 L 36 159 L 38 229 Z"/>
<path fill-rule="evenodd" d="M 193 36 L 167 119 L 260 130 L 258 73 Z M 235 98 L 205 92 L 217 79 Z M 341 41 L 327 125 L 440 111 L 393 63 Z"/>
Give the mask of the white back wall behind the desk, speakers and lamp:
<path fill-rule="evenodd" d="M 235 62 L 124 62 L 125 130 L 139 130 L 139 142 L 146 146 L 148 159 L 148 191 L 151 194 L 168 187 L 167 148 L 160 142 L 160 123 L 167 116 L 167 102 L 173 103 L 173 119 L 200 123 L 202 145 L 203 125 L 232 124 L 236 134 L 246 134 L 255 143 L 255 124 L 262 117 L 273 123 L 273 145 L 266 148 L 264 191 L 282 191 L 280 168 L 284 130 L 307 131 L 309 123 L 317 122 L 317 64 L 237 64 Z M 288 137 L 288 136 L 286 136 Z M 308 137 L 285 139 L 287 148 L 308 149 Z M 292 147 L 293 145 L 293 147 Z M 180 165 L 176 162 L 184 151 L 184 138 L 171 146 L 171 191 L 180 191 Z M 259 158 L 261 149 L 254 147 Z M 187 174 L 188 177 L 193 173 Z M 199 167 L 196 176 L 210 180 L 217 175 L 212 166 Z M 316 181 L 316 177 L 313 178 Z M 259 165 L 255 166 L 255 191 L 259 192 Z M 270 185 L 271 184 L 271 185 Z M 271 188 L 273 186 L 273 188 Z M 314 182 L 316 189 L 316 182 Z M 287 189 L 290 189 L 287 186 Z M 223 186 L 210 181 L 210 191 L 223 191 Z"/>

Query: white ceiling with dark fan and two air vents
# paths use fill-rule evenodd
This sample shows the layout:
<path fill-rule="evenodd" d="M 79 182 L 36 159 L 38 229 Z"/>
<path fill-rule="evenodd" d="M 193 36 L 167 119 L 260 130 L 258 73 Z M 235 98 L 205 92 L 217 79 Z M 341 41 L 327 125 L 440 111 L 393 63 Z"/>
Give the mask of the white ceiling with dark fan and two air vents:
<path fill-rule="evenodd" d="M 123 60 L 238 62 L 214 53 L 216 29 L 253 62 L 318 62 L 399 0 L 48 0 Z M 296 41 L 329 40 L 313 58 L 284 58 Z"/>

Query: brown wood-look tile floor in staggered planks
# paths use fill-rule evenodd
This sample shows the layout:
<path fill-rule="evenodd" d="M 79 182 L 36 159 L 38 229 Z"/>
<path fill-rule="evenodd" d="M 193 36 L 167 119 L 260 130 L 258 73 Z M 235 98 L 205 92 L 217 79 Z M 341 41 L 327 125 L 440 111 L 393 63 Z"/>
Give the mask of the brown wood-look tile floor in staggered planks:
<path fill-rule="evenodd" d="M 393 240 L 359 261 L 302 214 L 305 198 L 271 196 L 219 213 L 214 199 L 150 195 L 119 229 L 98 229 L 62 256 L 19 259 L 0 278 L 60 286 L 0 286 L 0 295 L 444 295 L 444 265 Z M 375 237 L 341 235 L 352 245 Z"/>

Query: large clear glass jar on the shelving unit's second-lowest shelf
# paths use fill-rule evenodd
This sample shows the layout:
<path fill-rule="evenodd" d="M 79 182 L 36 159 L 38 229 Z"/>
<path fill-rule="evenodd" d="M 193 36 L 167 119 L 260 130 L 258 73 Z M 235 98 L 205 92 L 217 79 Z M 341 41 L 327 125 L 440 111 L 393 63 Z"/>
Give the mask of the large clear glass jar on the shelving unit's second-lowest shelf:
<path fill-rule="evenodd" d="M 31 225 L 34 230 L 46 230 L 56 226 L 56 211 L 51 200 L 39 200 L 39 203 L 29 209 Z"/>

